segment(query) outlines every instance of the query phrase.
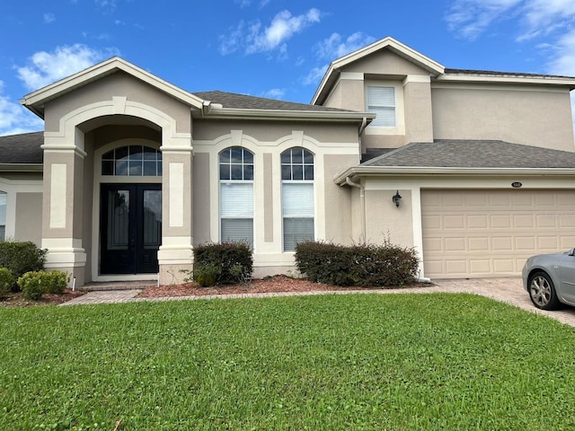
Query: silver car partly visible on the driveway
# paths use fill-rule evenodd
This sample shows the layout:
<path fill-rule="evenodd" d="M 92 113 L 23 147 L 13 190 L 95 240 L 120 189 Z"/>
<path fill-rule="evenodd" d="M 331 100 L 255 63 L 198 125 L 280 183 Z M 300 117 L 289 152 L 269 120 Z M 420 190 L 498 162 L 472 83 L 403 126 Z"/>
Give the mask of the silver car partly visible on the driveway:
<path fill-rule="evenodd" d="M 575 305 L 575 249 L 527 259 L 522 276 L 535 307 L 556 310 L 561 303 Z"/>

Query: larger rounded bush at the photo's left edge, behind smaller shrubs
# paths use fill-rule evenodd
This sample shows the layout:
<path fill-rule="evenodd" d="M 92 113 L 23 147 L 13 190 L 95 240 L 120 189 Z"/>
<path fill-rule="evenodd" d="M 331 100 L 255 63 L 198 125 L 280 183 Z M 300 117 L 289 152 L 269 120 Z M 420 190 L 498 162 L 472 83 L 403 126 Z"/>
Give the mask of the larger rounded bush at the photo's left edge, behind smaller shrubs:
<path fill-rule="evenodd" d="M 47 252 L 33 242 L 0 242 L 0 268 L 10 269 L 17 279 L 27 272 L 44 269 Z"/>

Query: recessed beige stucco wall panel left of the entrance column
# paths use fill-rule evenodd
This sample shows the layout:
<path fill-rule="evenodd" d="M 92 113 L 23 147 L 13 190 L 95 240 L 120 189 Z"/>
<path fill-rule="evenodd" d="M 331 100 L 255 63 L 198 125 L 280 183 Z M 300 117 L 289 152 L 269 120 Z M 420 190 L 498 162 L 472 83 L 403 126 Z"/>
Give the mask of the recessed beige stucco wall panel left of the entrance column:
<path fill-rule="evenodd" d="M 40 245 L 42 240 L 42 194 L 16 193 L 14 239 Z"/>

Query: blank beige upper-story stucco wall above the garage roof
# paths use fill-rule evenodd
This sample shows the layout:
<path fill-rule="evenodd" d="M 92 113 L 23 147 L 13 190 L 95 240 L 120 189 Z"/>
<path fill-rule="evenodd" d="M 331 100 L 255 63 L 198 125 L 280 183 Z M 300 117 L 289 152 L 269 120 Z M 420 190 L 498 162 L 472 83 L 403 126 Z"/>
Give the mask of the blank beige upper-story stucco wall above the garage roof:
<path fill-rule="evenodd" d="M 436 139 L 499 139 L 574 151 L 569 92 L 544 87 L 433 84 Z"/>

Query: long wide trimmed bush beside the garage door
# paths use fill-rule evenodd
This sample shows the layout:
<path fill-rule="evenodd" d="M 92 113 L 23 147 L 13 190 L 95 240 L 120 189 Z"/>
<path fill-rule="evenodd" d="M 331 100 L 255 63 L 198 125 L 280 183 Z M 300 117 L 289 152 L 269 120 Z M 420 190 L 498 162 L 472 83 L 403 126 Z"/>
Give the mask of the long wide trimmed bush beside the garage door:
<path fill-rule="evenodd" d="M 419 260 L 413 249 L 331 242 L 300 242 L 297 269 L 309 280 L 336 286 L 403 286 L 414 280 Z"/>

